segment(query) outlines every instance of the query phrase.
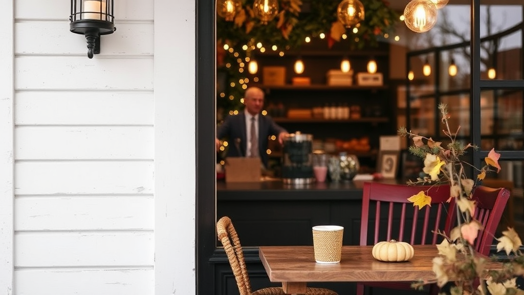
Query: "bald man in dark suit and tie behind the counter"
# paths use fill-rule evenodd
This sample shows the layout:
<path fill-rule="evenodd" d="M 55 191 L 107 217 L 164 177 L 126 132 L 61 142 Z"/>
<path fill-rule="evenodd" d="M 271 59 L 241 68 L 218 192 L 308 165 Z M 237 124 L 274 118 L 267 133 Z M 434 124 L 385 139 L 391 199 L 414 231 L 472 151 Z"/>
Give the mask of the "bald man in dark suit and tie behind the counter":
<path fill-rule="evenodd" d="M 278 136 L 282 144 L 288 134 L 275 123 L 269 116 L 260 112 L 264 107 L 264 91 L 258 87 L 246 89 L 244 94 L 244 111 L 237 115 L 230 115 L 220 125 L 216 132 L 216 149 L 220 148 L 221 138 L 228 138 L 227 156 L 231 157 L 260 157 L 267 167 L 268 155 L 266 153 L 269 135 Z"/>

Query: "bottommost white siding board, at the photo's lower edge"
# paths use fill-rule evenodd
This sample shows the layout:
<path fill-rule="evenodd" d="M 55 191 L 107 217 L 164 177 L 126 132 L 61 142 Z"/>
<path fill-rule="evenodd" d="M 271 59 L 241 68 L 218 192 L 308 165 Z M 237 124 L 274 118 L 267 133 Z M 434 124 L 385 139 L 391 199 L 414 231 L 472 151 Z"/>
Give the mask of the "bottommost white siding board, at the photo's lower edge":
<path fill-rule="evenodd" d="M 15 270 L 16 295 L 152 295 L 152 269 Z"/>

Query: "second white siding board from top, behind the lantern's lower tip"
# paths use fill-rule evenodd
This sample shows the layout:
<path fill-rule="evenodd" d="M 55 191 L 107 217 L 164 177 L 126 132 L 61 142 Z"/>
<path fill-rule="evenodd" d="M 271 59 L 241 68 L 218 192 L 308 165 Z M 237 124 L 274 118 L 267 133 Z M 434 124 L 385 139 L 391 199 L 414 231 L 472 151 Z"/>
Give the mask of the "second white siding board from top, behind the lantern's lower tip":
<path fill-rule="evenodd" d="M 153 24 L 115 24 L 116 31 L 101 37 L 101 58 L 107 55 L 152 55 Z M 51 41 L 50 41 L 51 40 Z M 42 46 L 47 44 L 47 46 Z M 69 31 L 69 21 L 23 21 L 15 24 L 16 55 L 82 55 L 87 53 L 84 35 Z"/>

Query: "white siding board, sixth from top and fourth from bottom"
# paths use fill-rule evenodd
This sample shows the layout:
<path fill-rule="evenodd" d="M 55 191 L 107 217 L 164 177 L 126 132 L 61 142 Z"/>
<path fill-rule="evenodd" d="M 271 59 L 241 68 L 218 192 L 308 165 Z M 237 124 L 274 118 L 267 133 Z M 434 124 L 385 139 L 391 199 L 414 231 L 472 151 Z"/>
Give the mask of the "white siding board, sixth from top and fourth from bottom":
<path fill-rule="evenodd" d="M 15 195 L 152 194 L 152 161 L 21 161 Z"/>

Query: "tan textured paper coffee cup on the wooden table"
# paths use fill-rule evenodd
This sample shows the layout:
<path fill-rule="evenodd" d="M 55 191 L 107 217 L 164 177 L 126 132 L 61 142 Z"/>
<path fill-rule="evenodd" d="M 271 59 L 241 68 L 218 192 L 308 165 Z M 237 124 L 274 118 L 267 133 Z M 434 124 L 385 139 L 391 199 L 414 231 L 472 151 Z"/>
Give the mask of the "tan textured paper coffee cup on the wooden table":
<path fill-rule="evenodd" d="M 338 225 L 313 226 L 313 249 L 319 264 L 336 264 L 342 256 L 344 227 Z"/>

